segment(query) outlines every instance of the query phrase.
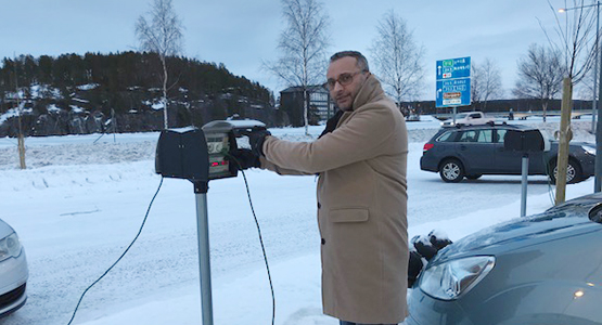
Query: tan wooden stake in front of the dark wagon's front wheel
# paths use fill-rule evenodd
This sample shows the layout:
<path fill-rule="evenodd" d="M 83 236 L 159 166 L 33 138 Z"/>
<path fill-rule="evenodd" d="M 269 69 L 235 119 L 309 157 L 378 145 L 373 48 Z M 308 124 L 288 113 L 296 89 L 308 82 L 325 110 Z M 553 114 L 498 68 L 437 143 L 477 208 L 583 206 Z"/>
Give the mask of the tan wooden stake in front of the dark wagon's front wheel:
<path fill-rule="evenodd" d="M 573 82 L 564 78 L 562 84 L 562 107 L 560 117 L 559 155 L 556 159 L 556 205 L 564 203 L 566 196 L 566 166 L 568 165 L 568 142 L 571 132 L 571 106 L 573 104 Z M 551 172 L 554 172 L 553 170 Z"/>

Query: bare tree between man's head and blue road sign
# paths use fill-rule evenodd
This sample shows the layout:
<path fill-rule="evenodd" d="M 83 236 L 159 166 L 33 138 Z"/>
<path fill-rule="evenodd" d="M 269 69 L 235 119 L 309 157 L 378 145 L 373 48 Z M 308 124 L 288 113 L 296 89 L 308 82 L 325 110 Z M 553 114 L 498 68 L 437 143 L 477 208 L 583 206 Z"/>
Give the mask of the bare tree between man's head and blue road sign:
<path fill-rule="evenodd" d="M 384 14 L 376 30 L 370 49 L 375 70 L 387 94 L 401 107 L 404 100 L 418 99 L 424 89 L 424 47 L 417 44 L 406 21 L 393 10 Z"/>

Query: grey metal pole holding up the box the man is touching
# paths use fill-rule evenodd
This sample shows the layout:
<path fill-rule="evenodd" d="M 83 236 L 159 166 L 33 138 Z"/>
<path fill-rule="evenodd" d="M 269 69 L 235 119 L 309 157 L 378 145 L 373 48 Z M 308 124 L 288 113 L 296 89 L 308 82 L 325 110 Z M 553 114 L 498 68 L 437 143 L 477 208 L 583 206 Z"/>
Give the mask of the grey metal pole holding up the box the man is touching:
<path fill-rule="evenodd" d="M 201 273 L 201 310 L 203 325 L 214 324 L 212 301 L 212 266 L 209 263 L 209 224 L 207 221 L 208 183 L 194 183 L 196 225 L 198 237 L 198 271 Z"/>

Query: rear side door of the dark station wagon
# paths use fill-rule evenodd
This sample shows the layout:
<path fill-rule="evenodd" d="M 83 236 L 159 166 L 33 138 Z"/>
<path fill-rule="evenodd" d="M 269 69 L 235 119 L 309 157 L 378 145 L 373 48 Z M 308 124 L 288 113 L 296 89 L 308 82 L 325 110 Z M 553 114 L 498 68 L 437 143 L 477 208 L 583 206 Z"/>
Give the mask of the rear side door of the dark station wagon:
<path fill-rule="evenodd" d="M 463 130 L 457 141 L 457 153 L 464 164 L 466 174 L 487 173 L 492 170 L 492 130 Z"/>

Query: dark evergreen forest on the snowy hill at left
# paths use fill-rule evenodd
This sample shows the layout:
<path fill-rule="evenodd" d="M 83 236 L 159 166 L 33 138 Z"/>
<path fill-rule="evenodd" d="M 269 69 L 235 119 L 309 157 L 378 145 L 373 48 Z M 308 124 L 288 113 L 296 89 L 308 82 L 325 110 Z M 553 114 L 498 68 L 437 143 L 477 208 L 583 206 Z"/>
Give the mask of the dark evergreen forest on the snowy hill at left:
<path fill-rule="evenodd" d="M 170 128 L 229 117 L 287 122 L 270 90 L 223 64 L 168 56 L 167 67 Z M 161 130 L 162 75 L 159 57 L 148 52 L 4 57 L 0 136 L 15 136 L 20 119 L 26 136 Z"/>

